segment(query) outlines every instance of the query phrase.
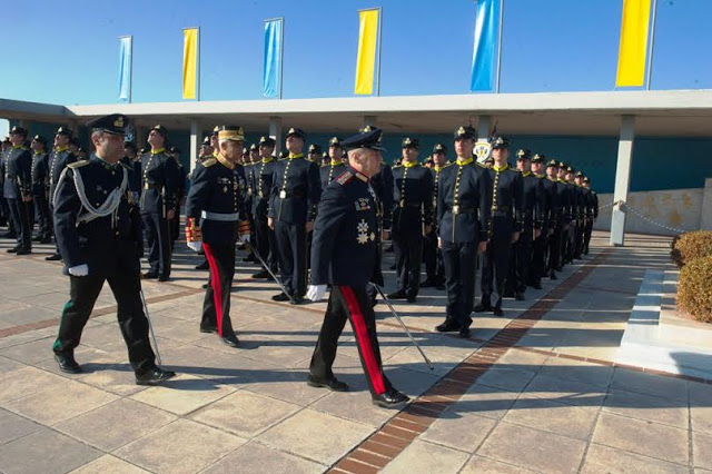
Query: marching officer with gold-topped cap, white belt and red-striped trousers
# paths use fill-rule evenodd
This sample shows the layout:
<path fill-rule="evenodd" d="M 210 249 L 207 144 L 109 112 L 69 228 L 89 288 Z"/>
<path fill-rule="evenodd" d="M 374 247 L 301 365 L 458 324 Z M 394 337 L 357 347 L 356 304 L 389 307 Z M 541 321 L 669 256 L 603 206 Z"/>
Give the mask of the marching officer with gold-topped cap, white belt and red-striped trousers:
<path fill-rule="evenodd" d="M 236 172 L 244 144 L 241 127 L 222 127 L 218 156 L 197 165 L 186 203 L 186 241 L 195 251 L 202 248 L 210 266 L 200 332 L 217 333 L 230 347 L 239 345 L 230 320 L 235 244 L 238 237 L 249 241 L 247 203 L 240 189 L 244 175 Z"/>

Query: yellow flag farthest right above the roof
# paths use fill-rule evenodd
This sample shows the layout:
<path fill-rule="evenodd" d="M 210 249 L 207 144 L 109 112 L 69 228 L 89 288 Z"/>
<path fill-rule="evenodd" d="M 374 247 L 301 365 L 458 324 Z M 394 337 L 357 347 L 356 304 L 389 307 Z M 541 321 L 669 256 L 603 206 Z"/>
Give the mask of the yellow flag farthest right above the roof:
<path fill-rule="evenodd" d="M 623 0 L 615 87 L 643 86 L 651 0 Z"/>

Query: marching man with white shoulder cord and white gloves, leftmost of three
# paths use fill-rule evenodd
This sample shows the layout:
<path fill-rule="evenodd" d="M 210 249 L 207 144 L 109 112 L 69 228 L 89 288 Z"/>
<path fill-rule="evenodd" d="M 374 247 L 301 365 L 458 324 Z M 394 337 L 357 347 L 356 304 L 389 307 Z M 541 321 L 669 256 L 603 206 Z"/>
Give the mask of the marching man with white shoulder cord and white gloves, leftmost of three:
<path fill-rule="evenodd" d="M 52 349 L 62 372 L 81 372 L 73 352 L 108 280 L 136 383 L 156 385 L 176 374 L 156 366 L 148 339 L 149 322 L 140 297 L 141 218 L 129 206 L 128 170 L 119 164 L 127 126 L 126 116 L 118 113 L 88 124 L 96 152 L 89 160 L 69 165 L 57 184 L 55 235 L 69 274 L 70 300 Z"/>

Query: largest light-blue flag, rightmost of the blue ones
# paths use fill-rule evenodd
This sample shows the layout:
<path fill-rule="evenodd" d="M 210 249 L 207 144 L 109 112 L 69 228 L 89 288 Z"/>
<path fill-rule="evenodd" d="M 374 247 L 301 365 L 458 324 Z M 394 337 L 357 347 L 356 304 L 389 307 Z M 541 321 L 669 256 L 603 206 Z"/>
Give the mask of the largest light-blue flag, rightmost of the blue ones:
<path fill-rule="evenodd" d="M 501 8 L 500 0 L 477 0 L 475 49 L 472 56 L 469 82 L 469 90 L 473 92 L 494 89 Z"/>

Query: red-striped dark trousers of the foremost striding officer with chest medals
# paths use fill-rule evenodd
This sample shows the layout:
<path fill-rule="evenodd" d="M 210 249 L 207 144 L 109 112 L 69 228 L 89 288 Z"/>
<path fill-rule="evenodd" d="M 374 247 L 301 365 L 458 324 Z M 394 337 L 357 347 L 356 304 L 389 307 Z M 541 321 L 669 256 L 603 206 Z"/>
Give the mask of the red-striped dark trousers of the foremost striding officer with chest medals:
<path fill-rule="evenodd" d="M 334 377 L 332 365 L 336 357 L 338 337 L 349 319 L 356 336 L 358 355 L 368 381 L 372 395 L 380 395 L 392 389 L 390 382 L 383 373 L 380 348 L 376 335 L 376 315 L 370 305 L 366 287 L 332 286 L 329 302 L 322 324 L 319 340 L 316 343 L 309 372 L 315 378 L 328 381 Z"/>

